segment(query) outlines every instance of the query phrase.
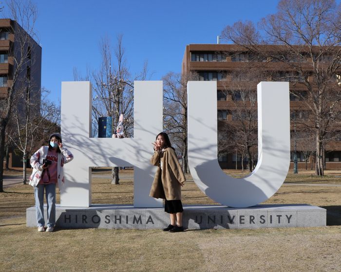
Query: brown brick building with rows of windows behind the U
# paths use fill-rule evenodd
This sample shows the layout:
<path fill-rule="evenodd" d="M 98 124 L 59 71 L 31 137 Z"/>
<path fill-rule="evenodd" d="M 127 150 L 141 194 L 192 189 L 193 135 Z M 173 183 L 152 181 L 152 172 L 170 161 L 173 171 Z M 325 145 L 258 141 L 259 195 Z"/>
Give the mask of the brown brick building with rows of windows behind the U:
<path fill-rule="evenodd" d="M 270 48 L 271 51 L 283 51 L 283 48 L 280 46 L 266 47 L 267 49 Z M 296 136 L 298 169 L 314 169 L 314 155 L 311 155 L 311 152 L 307 152 L 308 150 L 315 150 L 314 136 L 308 140 L 307 132 L 304 129 L 304 123 L 313 122 L 309 120 L 309 111 L 305 102 L 303 102 L 307 95 L 306 86 L 297 78 L 292 81 L 295 71 L 290 66 L 286 66 L 283 62 L 272 61 L 266 57 L 254 62 L 258 66 L 254 66 L 253 73 L 256 70 L 258 74 L 252 74 L 249 68 L 250 58 L 251 54 L 237 45 L 190 44 L 186 46 L 184 53 L 182 73 L 196 72 L 199 80 L 217 81 L 218 137 L 219 132 L 223 130 L 225 125 L 237 122 L 236 112 L 242 107 L 242 99 L 237 91 L 238 88 L 252 87 L 256 91 L 256 86 L 260 81 L 289 81 L 292 145 L 292 162 L 290 167 L 293 168 Z M 311 69 L 311 59 L 306 57 L 302 61 L 302 66 L 306 70 Z M 312 81 L 313 77 L 308 76 L 307 80 Z M 251 99 L 246 100 L 248 101 L 245 102 L 245 105 L 251 107 Z M 254 110 L 256 109 L 257 102 L 255 102 Z M 331 137 L 324 145 L 326 170 L 341 168 L 340 131 L 341 127 L 340 129 L 336 128 L 334 131 L 335 136 Z M 257 141 L 257 138 L 255 140 Z M 253 153 L 257 153 L 257 147 L 252 147 L 251 150 Z M 241 169 L 242 160 L 244 161 L 244 169 L 247 165 L 247 158 L 235 151 L 218 155 L 218 160 L 221 167 L 225 169 Z"/>

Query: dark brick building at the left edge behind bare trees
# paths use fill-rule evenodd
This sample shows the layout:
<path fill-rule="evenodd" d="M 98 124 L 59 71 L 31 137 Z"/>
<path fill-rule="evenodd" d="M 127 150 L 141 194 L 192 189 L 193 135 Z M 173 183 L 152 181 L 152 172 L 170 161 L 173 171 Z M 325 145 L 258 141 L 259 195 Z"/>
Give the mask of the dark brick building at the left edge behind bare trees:
<path fill-rule="evenodd" d="M 25 37 L 24 49 L 21 50 L 19 39 Z M 15 59 L 20 58 L 20 51 L 25 51 L 24 63 L 19 69 L 18 79 L 14 86 L 15 93 L 22 89 L 30 88 L 31 102 L 37 107 L 32 112 L 39 113 L 40 85 L 41 85 L 41 47 L 30 37 L 14 20 L 0 19 L 0 112 L 4 107 L 4 99 L 13 83 L 14 73 L 17 69 Z M 33 94 L 33 95 L 32 95 Z M 16 97 L 19 112 L 24 111 L 23 99 Z M 14 148 L 9 150 L 9 167 L 22 167 L 21 155 L 14 153 Z"/>

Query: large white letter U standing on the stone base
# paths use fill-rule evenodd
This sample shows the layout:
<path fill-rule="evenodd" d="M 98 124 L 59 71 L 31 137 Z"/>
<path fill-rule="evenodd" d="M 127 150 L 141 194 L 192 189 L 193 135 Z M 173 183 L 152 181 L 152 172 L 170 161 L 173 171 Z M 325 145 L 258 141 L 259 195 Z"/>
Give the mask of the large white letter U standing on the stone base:
<path fill-rule="evenodd" d="M 188 158 L 194 182 L 214 201 L 248 207 L 266 201 L 283 184 L 290 164 L 289 83 L 258 88 L 258 164 L 247 177 L 226 175 L 217 159 L 216 82 L 188 83 Z"/>

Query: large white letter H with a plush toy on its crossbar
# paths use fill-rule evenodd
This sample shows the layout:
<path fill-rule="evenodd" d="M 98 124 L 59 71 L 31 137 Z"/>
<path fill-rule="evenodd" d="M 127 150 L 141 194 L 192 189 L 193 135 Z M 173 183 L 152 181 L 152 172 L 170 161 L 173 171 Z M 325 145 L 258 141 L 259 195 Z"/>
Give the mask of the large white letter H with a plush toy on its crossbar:
<path fill-rule="evenodd" d="M 149 197 L 156 171 L 151 142 L 162 131 L 162 81 L 134 83 L 134 138 L 90 138 L 91 107 L 90 82 L 62 82 L 61 134 L 75 158 L 64 166 L 61 206 L 91 205 L 91 167 L 133 166 L 134 207 L 162 207 Z"/>

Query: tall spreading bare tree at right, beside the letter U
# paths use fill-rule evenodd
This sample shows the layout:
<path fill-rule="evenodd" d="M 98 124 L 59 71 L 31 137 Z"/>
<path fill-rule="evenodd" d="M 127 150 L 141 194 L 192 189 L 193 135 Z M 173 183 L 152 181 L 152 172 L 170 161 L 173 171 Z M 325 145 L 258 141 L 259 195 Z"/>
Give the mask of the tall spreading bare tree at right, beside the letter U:
<path fill-rule="evenodd" d="M 315 131 L 315 173 L 323 175 L 323 142 L 335 127 L 341 98 L 335 84 L 341 68 L 340 5 L 334 0 L 281 0 L 277 13 L 263 18 L 259 28 L 239 21 L 222 35 L 266 60 L 265 66 L 283 63 L 285 70 L 292 70 L 287 78 L 305 87 L 305 106 L 314 119 L 309 126 Z"/>

